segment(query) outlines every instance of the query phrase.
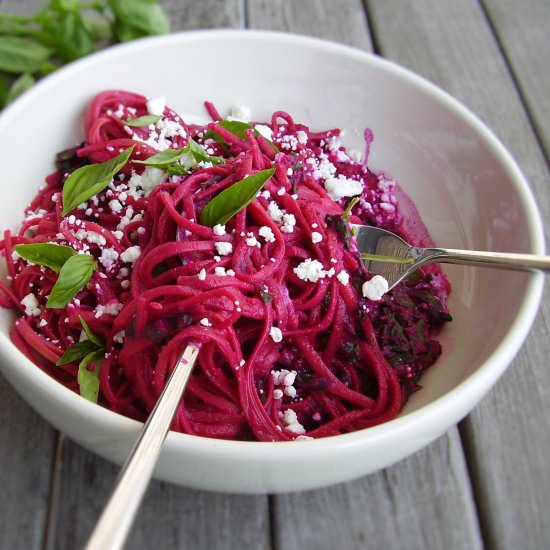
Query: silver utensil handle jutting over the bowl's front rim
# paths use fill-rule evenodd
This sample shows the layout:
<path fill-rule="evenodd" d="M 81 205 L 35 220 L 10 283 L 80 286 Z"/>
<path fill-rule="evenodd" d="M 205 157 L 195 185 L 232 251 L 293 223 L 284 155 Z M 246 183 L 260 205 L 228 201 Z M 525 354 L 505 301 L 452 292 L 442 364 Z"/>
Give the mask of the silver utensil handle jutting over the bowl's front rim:
<path fill-rule="evenodd" d="M 115 488 L 88 540 L 86 550 L 122 548 L 149 485 L 198 354 L 199 348 L 189 344 L 179 358 L 134 448 L 120 470 Z"/>

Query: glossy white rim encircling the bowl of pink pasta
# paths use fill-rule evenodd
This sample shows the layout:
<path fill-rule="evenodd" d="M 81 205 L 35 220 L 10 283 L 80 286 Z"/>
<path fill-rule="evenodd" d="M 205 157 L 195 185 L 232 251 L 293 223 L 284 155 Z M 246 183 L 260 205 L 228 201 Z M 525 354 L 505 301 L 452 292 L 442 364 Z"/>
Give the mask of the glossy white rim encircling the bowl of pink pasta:
<path fill-rule="evenodd" d="M 511 181 L 518 194 L 518 199 L 529 215 L 526 229 L 531 243 L 531 251 L 536 254 L 544 253 L 542 222 L 532 191 L 511 154 L 493 131 L 477 115 L 439 86 L 411 70 L 376 54 L 325 39 L 276 31 L 216 29 L 182 31 L 115 45 L 75 61 L 38 82 L 31 90 L 4 110 L 0 115 L 0 129 L 3 125 L 8 124 L 11 119 L 17 117 L 17 114 L 24 110 L 28 103 L 34 101 L 42 91 L 57 85 L 59 81 L 71 78 L 73 74 L 78 74 L 82 70 L 92 69 L 94 65 L 100 64 L 105 59 L 124 56 L 129 52 L 139 52 L 142 49 L 157 45 L 163 46 L 197 40 L 210 41 L 220 39 L 249 42 L 270 41 L 274 45 L 284 43 L 296 47 L 314 49 L 319 52 L 338 54 L 386 71 L 429 95 L 431 99 L 442 107 L 452 111 L 464 120 L 483 139 L 506 172 L 510 174 Z M 516 318 L 500 344 L 475 372 L 441 397 L 404 416 L 398 416 L 383 424 L 355 432 L 320 439 L 304 440 L 295 445 L 290 445 L 289 442 L 221 440 L 171 431 L 166 439 L 163 454 L 172 451 L 176 454 L 180 452 L 203 454 L 208 453 L 209 450 L 215 447 L 217 453 L 223 452 L 227 458 L 242 458 L 243 451 L 246 450 L 247 460 L 250 461 L 265 460 L 272 462 L 273 460 L 280 461 L 281 459 L 313 459 L 319 452 L 330 453 L 342 447 L 378 445 L 387 439 L 392 440 L 399 437 L 403 432 L 425 421 L 429 421 L 434 416 L 437 417 L 444 410 L 462 411 L 462 403 L 465 401 L 465 396 L 469 393 L 475 393 L 479 396 L 485 394 L 491 388 L 494 381 L 507 368 L 513 356 L 521 347 L 535 319 L 542 298 L 543 284 L 544 276 L 541 273 L 533 274 L 528 279 L 524 291 L 524 299 Z M 0 348 L 5 359 L 10 361 L 11 364 L 18 365 L 21 369 L 20 374 L 28 383 L 39 386 L 44 394 L 51 396 L 56 401 L 64 402 L 68 411 L 78 411 L 82 417 L 86 417 L 94 424 L 101 423 L 102 425 L 107 425 L 110 432 L 137 433 L 141 429 L 143 425 L 141 422 L 91 403 L 66 388 L 60 382 L 57 382 L 21 354 L 4 333 L 0 334 Z M 455 419 L 455 421 L 458 420 L 460 418 Z"/>

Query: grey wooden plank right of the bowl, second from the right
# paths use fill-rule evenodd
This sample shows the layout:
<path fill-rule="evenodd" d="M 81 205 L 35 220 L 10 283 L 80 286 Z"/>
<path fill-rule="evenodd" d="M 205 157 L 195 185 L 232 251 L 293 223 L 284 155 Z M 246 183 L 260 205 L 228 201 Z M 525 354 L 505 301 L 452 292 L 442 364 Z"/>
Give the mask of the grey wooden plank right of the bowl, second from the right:
<path fill-rule="evenodd" d="M 369 2 L 368 7 L 385 56 L 442 85 L 503 140 L 530 181 L 548 228 L 547 166 L 478 3 L 387 0 Z M 517 6 L 518 14 L 527 9 L 523 2 Z M 527 18 L 527 13 L 522 17 Z M 547 32 L 535 12 L 529 21 L 528 32 Z M 497 26 L 497 32 L 504 31 Z M 548 59 L 548 42 L 538 55 Z M 527 89 L 518 76 L 521 89 Z M 545 519 L 550 508 L 549 318 L 546 299 L 511 369 L 464 423 L 482 529 L 491 548 L 540 549 L 550 540 L 550 524 Z"/>

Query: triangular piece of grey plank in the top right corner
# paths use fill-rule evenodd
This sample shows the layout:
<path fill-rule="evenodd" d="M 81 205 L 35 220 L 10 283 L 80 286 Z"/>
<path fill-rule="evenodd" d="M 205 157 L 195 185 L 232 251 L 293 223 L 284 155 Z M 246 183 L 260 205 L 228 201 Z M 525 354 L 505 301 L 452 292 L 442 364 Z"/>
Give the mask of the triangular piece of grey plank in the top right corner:
<path fill-rule="evenodd" d="M 483 4 L 550 158 L 550 2 L 483 0 Z"/>

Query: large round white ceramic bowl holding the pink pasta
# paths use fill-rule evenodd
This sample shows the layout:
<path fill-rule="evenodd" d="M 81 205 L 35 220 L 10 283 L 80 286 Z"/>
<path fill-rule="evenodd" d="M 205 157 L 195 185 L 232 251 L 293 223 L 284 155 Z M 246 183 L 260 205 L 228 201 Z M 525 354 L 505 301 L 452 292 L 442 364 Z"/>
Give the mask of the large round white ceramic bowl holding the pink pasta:
<path fill-rule="evenodd" d="M 220 53 L 223 58 L 220 59 Z M 217 61 L 216 61 L 217 60 Z M 83 138 L 86 104 L 107 88 L 164 95 L 176 111 L 284 109 L 313 128 L 338 126 L 371 165 L 393 175 L 441 246 L 543 252 L 541 222 L 516 164 L 495 136 L 449 95 L 414 74 L 345 46 L 242 31 L 174 34 L 111 48 L 40 82 L 0 117 L 2 227 L 15 228 L 56 151 Z M 400 416 L 352 434 L 293 443 L 220 441 L 170 433 L 156 476 L 191 487 L 262 493 L 349 480 L 415 452 L 464 417 L 493 386 L 525 338 L 542 276 L 447 270 L 454 321 L 443 356 Z M 503 299 L 505 297 L 505 299 Z M 42 416 L 88 449 L 120 463 L 140 424 L 89 403 L 28 361 L 0 312 L 1 369 Z"/>

